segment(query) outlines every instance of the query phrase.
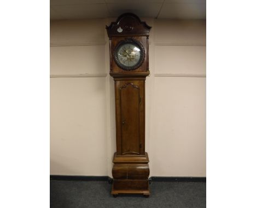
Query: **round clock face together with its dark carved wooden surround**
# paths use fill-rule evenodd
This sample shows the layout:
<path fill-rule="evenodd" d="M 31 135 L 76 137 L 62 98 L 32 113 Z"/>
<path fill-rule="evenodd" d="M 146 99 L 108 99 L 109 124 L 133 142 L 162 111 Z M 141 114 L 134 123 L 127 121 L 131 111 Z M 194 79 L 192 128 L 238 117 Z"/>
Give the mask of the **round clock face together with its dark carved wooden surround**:
<path fill-rule="evenodd" d="M 114 50 L 114 60 L 123 70 L 135 70 L 144 61 L 144 48 L 134 39 L 120 41 Z"/>

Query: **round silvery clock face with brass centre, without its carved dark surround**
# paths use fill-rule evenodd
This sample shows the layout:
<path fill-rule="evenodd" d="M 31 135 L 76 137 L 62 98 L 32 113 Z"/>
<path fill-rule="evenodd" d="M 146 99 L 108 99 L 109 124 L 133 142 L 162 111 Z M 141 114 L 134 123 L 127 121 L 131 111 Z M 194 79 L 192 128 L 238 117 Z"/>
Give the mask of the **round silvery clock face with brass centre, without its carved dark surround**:
<path fill-rule="evenodd" d="M 135 66 L 141 58 L 141 50 L 135 44 L 124 44 L 118 48 L 118 60 L 125 66 Z"/>

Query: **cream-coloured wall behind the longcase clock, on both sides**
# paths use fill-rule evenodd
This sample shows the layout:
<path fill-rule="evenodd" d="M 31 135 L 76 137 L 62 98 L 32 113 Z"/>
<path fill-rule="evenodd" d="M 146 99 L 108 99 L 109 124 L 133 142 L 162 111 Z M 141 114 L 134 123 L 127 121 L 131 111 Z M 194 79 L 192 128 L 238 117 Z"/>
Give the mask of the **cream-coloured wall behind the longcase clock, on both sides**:
<path fill-rule="evenodd" d="M 53 21 L 50 174 L 112 176 L 114 82 L 105 25 Z M 206 22 L 144 19 L 150 176 L 206 176 Z"/>

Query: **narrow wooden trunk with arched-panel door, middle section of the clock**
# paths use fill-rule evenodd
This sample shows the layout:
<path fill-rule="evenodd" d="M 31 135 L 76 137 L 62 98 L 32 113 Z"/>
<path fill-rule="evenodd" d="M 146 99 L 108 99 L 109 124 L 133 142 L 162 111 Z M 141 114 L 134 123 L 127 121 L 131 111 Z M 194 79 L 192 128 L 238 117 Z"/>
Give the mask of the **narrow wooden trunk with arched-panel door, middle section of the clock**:
<path fill-rule="evenodd" d="M 117 155 L 144 155 L 143 80 L 115 81 Z"/>

